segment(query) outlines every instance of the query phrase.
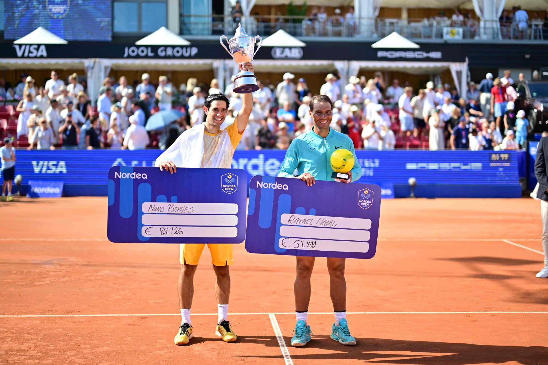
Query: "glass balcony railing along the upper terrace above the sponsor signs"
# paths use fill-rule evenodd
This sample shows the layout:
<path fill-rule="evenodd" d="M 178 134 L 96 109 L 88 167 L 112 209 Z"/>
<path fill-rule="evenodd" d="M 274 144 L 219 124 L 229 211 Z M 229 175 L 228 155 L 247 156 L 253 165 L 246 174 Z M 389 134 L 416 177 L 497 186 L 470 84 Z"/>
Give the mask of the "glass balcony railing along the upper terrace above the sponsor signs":
<path fill-rule="evenodd" d="M 380 39 L 392 32 L 398 32 L 409 39 L 473 40 L 507 39 L 544 42 L 548 39 L 548 29 L 541 21 L 530 21 L 525 29 L 517 24 L 481 26 L 479 20 L 471 19 L 454 22 L 450 19 L 391 19 L 391 18 L 352 18 L 331 16 L 326 20 L 299 16 L 242 16 L 233 18 L 226 15 L 181 15 L 181 34 L 211 36 L 226 34 L 231 36 L 238 22 L 248 34 L 269 36 L 276 31 L 284 31 L 296 37 L 365 37 Z M 229 37 L 230 38 L 230 37 Z"/>

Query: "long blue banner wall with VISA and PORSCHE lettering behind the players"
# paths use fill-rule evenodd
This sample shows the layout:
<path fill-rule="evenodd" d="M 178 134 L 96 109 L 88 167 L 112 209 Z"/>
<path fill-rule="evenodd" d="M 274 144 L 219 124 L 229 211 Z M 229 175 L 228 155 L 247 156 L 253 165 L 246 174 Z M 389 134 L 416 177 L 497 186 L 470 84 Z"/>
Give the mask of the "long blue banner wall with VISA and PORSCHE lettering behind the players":
<path fill-rule="evenodd" d="M 16 173 L 28 180 L 63 180 L 65 195 L 106 195 L 112 166 L 154 166 L 161 151 L 31 150 L 17 151 Z M 236 150 L 233 169 L 276 176 L 284 150 Z M 521 196 L 516 151 L 357 150 L 363 175 L 359 183 L 391 183 L 396 198 L 409 196 L 409 177 L 416 178 L 416 196 L 518 198 Z M 25 189 L 24 189 L 25 191 Z"/>

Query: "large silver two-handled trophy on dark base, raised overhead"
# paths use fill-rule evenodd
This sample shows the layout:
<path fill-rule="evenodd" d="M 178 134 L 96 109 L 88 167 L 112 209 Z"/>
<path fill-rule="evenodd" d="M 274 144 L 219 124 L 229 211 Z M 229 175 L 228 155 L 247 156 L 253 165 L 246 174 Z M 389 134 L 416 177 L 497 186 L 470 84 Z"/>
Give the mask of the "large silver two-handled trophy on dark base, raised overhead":
<path fill-rule="evenodd" d="M 229 48 L 226 48 L 225 44 L 222 42 L 222 39 L 226 39 L 226 43 L 229 44 Z M 256 39 L 259 39 L 260 43 L 257 45 L 257 50 L 253 53 L 255 49 Z M 232 56 L 232 59 L 238 63 L 238 65 L 243 65 L 246 62 L 251 62 L 253 57 L 261 48 L 262 38 L 259 36 L 248 36 L 241 24 L 238 24 L 236 28 L 236 34 L 234 37 L 228 39 L 224 34 L 219 38 L 222 47 Z M 229 50 L 230 49 L 230 50 Z M 257 77 L 251 71 L 240 71 L 234 79 L 234 92 L 238 94 L 248 94 L 249 92 L 254 92 L 259 90 L 257 86 Z"/>

